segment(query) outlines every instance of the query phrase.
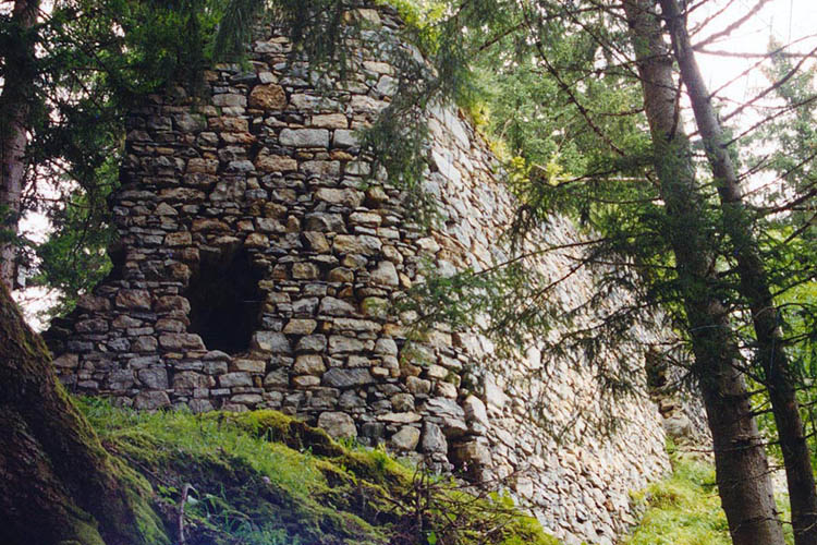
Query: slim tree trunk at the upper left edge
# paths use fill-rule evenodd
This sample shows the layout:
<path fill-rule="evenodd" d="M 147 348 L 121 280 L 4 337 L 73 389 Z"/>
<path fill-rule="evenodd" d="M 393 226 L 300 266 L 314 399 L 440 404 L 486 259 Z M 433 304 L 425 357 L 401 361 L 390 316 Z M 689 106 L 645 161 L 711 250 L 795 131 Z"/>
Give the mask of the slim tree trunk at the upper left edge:
<path fill-rule="evenodd" d="M 23 183 L 25 180 L 25 152 L 31 104 L 34 100 L 34 39 L 32 32 L 37 22 L 39 0 L 15 0 L 12 11 L 14 36 L 3 52 L 3 92 L 0 95 L 0 229 L 5 237 L 17 234 Z M 1 240 L 1 239 L 0 239 Z M 16 277 L 16 246 L 0 242 L 0 283 L 14 289 Z"/>

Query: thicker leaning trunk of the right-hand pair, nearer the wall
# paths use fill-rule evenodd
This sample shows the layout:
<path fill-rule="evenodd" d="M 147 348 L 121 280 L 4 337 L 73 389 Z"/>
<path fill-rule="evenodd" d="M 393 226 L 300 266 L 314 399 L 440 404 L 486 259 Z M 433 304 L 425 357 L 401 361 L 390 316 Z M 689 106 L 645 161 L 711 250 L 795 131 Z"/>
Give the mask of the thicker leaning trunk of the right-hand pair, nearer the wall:
<path fill-rule="evenodd" d="M 682 131 L 672 58 L 651 0 L 625 0 L 654 145 L 654 162 L 669 218 L 664 237 L 675 255 L 694 371 L 712 432 L 721 504 L 735 545 L 782 544 L 771 480 L 741 359 L 725 308 L 712 295 L 715 252 L 704 229 L 704 198 Z"/>

